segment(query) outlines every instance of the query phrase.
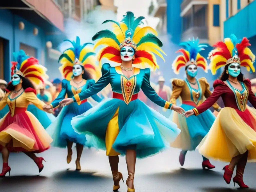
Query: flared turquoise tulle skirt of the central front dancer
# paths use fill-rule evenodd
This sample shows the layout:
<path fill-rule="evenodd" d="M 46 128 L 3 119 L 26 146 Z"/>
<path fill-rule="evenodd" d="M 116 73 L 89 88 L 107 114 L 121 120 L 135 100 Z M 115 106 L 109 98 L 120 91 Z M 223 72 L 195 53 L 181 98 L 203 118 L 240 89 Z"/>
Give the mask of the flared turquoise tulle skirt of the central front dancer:
<path fill-rule="evenodd" d="M 116 114 L 116 122 L 113 122 Z M 108 127 L 110 121 L 113 126 Z M 110 146 L 121 155 L 125 155 L 126 149 L 132 148 L 136 150 L 137 158 L 164 150 L 180 133 L 176 124 L 139 99 L 128 105 L 119 99 L 107 99 L 74 117 L 71 125 L 75 131 L 86 135 L 91 146 L 107 150 L 107 153 Z M 111 130 L 107 130 L 107 127 Z M 106 138 L 106 132 L 112 138 Z"/>

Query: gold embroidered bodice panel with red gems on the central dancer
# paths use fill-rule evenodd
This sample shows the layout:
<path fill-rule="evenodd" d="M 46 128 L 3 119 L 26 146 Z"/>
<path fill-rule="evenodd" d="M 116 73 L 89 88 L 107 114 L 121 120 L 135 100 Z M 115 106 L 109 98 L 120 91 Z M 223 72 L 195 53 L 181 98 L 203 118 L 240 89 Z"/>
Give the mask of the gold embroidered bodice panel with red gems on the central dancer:
<path fill-rule="evenodd" d="M 136 76 L 133 76 L 129 79 L 121 75 L 121 89 L 124 102 L 128 105 L 132 99 L 136 86 Z"/>

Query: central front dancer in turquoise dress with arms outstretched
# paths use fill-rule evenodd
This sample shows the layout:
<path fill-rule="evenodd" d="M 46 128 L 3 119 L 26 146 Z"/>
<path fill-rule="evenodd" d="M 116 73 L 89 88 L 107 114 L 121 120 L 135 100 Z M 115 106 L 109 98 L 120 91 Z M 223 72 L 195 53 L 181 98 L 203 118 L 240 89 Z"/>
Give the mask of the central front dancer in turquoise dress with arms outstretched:
<path fill-rule="evenodd" d="M 100 39 L 95 47 L 107 45 L 99 52 L 99 61 L 103 57 L 120 63 L 111 67 L 109 63 L 102 66 L 102 77 L 89 89 L 64 99 L 60 104 L 68 105 L 76 102 L 78 105 L 99 92 L 109 83 L 113 91 L 113 99 L 108 99 L 79 115 L 71 121 L 73 128 L 79 132 L 94 137 L 98 148 L 106 150 L 113 174 L 113 190 L 117 191 L 123 176 L 118 172 L 118 155 L 126 155 L 128 178 L 127 191 L 135 191 L 133 180 L 137 158 L 145 158 L 164 150 L 168 142 L 172 142 L 180 130 L 177 125 L 163 115 L 149 108 L 137 99 L 140 89 L 156 104 L 167 109 L 183 113 L 183 109 L 172 106 L 160 98 L 150 86 L 150 68 L 158 68 L 153 53 L 161 55 L 162 42 L 156 37 L 156 31 L 151 27 L 143 27 L 142 19 L 135 18 L 132 12 L 123 16 L 121 23 L 106 20 L 103 23 L 114 23 L 114 33 L 102 30 L 95 34 L 92 40 Z M 148 33 L 151 32 L 151 33 Z M 133 66 L 132 66 L 133 65 Z"/>

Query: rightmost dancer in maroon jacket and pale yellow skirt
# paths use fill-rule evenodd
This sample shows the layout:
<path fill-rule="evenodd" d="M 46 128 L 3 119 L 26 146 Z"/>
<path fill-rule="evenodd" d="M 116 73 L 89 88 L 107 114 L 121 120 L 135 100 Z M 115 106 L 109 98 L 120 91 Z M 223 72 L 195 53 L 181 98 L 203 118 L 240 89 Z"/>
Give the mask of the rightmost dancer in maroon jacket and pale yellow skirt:
<path fill-rule="evenodd" d="M 237 166 L 233 182 L 241 188 L 248 188 L 243 182 L 247 161 L 256 161 L 256 116 L 246 109 L 247 101 L 256 107 L 256 97 L 249 79 L 243 79 L 240 67 L 255 72 L 255 56 L 248 48 L 249 40 L 238 40 L 233 34 L 224 42 L 217 42 L 210 52 L 212 74 L 225 67 L 220 80 L 214 82 L 214 92 L 204 103 L 185 113 L 186 117 L 200 115 L 209 109 L 219 97 L 225 107 L 219 112 L 208 135 L 198 145 L 199 153 L 207 158 L 230 162 L 223 170 L 224 180 L 229 184 Z"/>

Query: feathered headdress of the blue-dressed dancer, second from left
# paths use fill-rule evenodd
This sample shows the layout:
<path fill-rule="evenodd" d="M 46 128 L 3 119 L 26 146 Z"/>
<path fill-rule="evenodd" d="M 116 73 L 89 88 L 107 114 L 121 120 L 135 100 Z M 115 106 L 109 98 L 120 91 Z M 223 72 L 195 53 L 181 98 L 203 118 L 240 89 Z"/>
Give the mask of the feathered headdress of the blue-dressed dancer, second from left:
<path fill-rule="evenodd" d="M 63 77 L 67 80 L 71 80 L 73 77 L 73 65 L 79 64 L 84 67 L 94 79 L 100 78 L 100 69 L 95 65 L 95 53 L 93 48 L 87 47 L 87 45 L 93 45 L 92 43 L 85 43 L 80 45 L 80 38 L 77 37 L 76 41 L 69 41 L 73 47 L 66 49 L 59 58 L 59 62 L 62 64 L 59 70 Z"/>

